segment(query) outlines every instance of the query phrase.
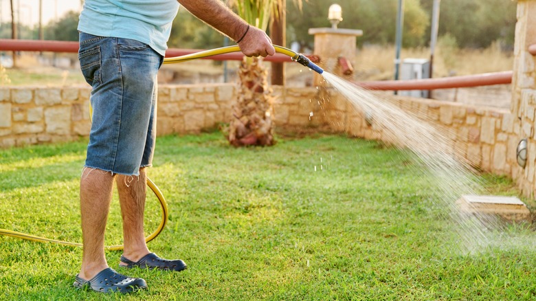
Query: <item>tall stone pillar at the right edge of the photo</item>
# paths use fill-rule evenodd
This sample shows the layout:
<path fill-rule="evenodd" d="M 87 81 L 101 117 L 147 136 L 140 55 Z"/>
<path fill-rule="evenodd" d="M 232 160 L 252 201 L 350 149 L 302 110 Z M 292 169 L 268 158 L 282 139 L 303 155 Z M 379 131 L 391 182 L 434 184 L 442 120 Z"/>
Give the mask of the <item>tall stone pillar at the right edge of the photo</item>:
<path fill-rule="evenodd" d="M 536 0 L 517 1 L 515 25 L 514 66 L 512 78 L 512 114 L 519 140 L 527 138 L 525 168 L 517 168 L 513 177 L 526 197 L 534 197 L 536 191 L 536 57 L 528 47 L 536 44 Z"/>

